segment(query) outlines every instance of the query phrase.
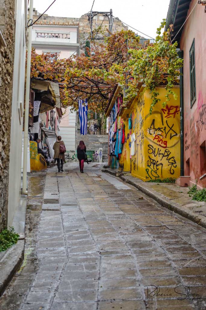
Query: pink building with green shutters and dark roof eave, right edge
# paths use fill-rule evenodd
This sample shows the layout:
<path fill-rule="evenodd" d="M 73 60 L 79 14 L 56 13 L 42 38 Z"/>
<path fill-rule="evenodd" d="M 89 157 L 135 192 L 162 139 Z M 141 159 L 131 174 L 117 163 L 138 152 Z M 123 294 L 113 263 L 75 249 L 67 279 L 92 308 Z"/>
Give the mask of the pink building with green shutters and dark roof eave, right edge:
<path fill-rule="evenodd" d="M 187 20 L 186 20 L 187 19 Z M 182 24 L 184 27 L 181 29 Z M 170 2 L 167 25 L 184 58 L 182 78 L 182 162 L 190 185 L 206 186 L 205 6 L 196 0 Z M 188 184 L 189 185 L 189 184 Z"/>

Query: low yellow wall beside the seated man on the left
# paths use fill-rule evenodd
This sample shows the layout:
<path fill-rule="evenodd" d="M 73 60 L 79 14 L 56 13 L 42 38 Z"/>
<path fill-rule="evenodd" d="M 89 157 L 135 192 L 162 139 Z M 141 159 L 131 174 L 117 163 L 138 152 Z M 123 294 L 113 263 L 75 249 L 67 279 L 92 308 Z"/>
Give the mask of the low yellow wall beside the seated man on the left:
<path fill-rule="evenodd" d="M 47 167 L 45 158 L 38 154 L 37 143 L 34 141 L 30 141 L 30 166 L 31 170 L 42 170 Z"/>

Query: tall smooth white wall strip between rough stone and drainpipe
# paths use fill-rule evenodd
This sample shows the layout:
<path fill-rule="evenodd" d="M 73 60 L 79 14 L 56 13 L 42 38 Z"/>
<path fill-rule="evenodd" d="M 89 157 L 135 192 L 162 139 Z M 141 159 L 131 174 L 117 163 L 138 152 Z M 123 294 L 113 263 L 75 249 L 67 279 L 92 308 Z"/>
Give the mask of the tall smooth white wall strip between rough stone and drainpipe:
<path fill-rule="evenodd" d="M 11 107 L 11 142 L 9 163 L 8 227 L 12 225 L 21 190 L 21 155 L 23 117 L 19 117 L 20 102 L 24 107 L 25 82 L 25 12 L 24 0 L 16 1 L 15 55 Z"/>

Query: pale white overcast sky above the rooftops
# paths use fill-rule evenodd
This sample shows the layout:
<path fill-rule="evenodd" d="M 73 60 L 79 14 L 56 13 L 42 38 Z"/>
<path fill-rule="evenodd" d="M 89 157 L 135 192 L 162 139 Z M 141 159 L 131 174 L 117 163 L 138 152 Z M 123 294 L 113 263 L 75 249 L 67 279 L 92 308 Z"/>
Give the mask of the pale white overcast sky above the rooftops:
<path fill-rule="evenodd" d="M 53 0 L 34 0 L 34 8 L 43 13 L 52 2 Z M 56 0 L 45 14 L 79 18 L 90 12 L 92 3 L 93 0 Z M 95 0 L 92 11 L 112 9 L 115 17 L 139 30 L 139 35 L 155 38 L 157 27 L 167 17 L 169 4 L 170 0 Z"/>

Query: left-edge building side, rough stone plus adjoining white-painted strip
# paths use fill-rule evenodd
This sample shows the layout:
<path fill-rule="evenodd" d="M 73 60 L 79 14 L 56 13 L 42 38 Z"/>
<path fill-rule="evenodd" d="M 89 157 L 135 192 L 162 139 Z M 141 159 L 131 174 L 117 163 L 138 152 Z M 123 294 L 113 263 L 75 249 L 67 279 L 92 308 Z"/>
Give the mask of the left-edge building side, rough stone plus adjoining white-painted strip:
<path fill-rule="evenodd" d="M 0 231 L 12 225 L 21 191 L 26 12 L 24 0 L 0 1 Z"/>

